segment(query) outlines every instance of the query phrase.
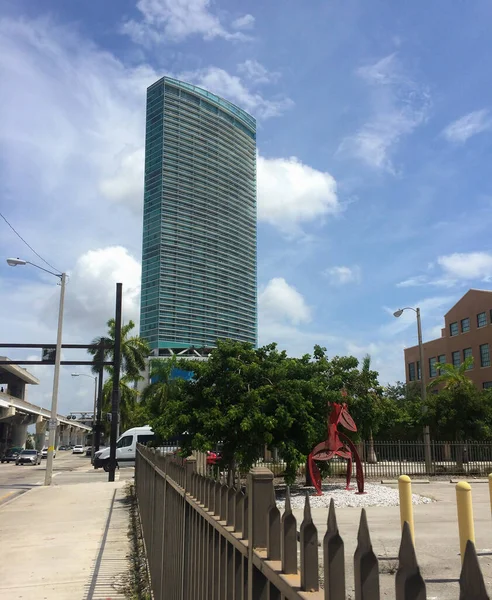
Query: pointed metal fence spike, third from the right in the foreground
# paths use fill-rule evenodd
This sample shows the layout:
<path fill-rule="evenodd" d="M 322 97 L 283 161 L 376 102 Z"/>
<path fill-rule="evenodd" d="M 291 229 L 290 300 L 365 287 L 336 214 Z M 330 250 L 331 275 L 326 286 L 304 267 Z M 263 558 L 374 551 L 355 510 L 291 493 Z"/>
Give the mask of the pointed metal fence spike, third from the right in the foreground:
<path fill-rule="evenodd" d="M 355 600 L 379 598 L 378 559 L 374 554 L 366 511 L 360 515 L 357 548 L 354 554 Z"/>

